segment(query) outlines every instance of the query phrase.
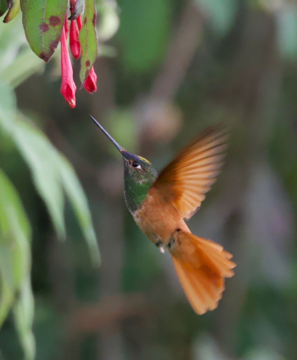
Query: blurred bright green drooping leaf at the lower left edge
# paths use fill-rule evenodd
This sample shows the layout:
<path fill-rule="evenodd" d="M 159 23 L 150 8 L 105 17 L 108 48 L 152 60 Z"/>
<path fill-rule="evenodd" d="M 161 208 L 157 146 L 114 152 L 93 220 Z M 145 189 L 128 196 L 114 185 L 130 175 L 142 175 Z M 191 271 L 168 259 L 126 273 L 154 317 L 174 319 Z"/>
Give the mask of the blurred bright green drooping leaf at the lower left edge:
<path fill-rule="evenodd" d="M 1 170 L 0 188 L 0 324 L 14 303 L 15 324 L 25 358 L 31 360 L 35 354 L 31 329 L 31 228 L 17 191 Z"/>

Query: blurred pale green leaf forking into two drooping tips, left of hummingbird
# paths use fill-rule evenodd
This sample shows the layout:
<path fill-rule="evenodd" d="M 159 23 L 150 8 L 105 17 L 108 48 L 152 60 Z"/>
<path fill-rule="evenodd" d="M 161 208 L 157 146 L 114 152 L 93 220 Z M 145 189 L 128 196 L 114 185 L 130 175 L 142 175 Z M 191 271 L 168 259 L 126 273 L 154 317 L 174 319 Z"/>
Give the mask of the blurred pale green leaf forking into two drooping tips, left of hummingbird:
<path fill-rule="evenodd" d="M 66 237 L 64 192 L 69 198 L 94 264 L 99 263 L 99 249 L 87 199 L 70 163 L 33 127 L 28 119 L 15 118 L 15 97 L 9 86 L 0 82 L 0 128 L 12 137 L 31 170 L 37 192 L 48 208 L 59 238 Z"/>

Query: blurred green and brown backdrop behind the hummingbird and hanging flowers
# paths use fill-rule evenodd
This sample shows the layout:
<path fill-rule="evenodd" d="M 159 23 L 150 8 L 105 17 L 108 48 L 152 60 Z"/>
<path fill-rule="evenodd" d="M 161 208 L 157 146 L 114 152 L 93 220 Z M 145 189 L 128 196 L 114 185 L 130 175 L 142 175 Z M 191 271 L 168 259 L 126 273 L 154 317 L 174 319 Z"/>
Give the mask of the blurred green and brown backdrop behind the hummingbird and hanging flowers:
<path fill-rule="evenodd" d="M 75 109 L 59 49 L 44 66 L 20 17 L 0 23 L 0 359 L 32 359 L 34 338 L 36 360 L 296 359 L 296 2 L 97 7 L 98 90 Z M 229 124 L 224 171 L 188 222 L 237 263 L 216 310 L 195 315 L 134 223 L 122 159 L 89 114 L 157 171 Z"/>

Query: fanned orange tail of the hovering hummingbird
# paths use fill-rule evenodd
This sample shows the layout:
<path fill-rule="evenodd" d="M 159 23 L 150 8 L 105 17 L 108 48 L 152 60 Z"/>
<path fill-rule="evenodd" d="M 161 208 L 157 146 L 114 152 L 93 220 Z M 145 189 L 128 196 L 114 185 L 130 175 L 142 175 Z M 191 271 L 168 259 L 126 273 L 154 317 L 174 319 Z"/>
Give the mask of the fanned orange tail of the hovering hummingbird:
<path fill-rule="evenodd" d="M 178 232 L 171 255 L 193 310 L 201 315 L 216 309 L 225 289 L 224 278 L 234 275 L 232 255 L 221 245 L 183 230 Z"/>

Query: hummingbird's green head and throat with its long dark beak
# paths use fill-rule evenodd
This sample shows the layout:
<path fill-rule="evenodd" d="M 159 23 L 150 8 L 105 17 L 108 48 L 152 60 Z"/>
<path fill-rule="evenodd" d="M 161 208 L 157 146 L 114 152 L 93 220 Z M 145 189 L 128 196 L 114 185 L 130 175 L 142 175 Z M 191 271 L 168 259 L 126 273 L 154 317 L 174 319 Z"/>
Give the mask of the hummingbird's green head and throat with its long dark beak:
<path fill-rule="evenodd" d="M 92 117 L 100 130 L 108 137 L 120 151 L 124 162 L 125 200 L 131 213 L 134 213 L 147 197 L 150 186 L 157 179 L 157 172 L 147 159 L 129 153 L 122 148 L 103 127 Z"/>

